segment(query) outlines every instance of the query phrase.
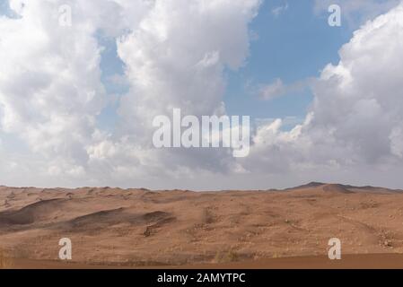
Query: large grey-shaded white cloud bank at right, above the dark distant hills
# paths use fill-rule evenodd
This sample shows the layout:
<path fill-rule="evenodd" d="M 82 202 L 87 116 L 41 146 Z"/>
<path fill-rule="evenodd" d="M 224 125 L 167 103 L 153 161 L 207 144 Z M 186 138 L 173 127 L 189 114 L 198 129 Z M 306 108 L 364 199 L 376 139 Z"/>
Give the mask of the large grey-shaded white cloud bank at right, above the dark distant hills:
<path fill-rule="evenodd" d="M 373 179 L 358 170 L 376 170 L 372 176 L 382 182 L 385 172 L 402 170 L 401 39 L 403 4 L 356 30 L 340 49 L 339 63 L 327 65 L 313 83 L 315 99 L 305 123 L 291 132 L 281 130 L 281 120 L 260 126 L 246 170 L 306 174 L 326 169 L 335 178 L 349 170 L 355 181 Z"/>

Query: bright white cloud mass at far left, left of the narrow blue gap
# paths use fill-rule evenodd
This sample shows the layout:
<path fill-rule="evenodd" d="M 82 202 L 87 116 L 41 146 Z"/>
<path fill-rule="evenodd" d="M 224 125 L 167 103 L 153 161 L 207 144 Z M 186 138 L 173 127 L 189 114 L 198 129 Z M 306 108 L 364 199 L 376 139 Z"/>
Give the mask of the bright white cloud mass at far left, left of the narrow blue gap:
<path fill-rule="evenodd" d="M 109 37 L 122 35 L 128 24 L 140 22 L 136 15 L 149 4 L 124 0 L 9 4 L 18 15 L 0 17 L 0 131 L 17 135 L 27 145 L 31 152 L 18 157 L 19 165 L 33 166 L 32 176 L 21 170 L 21 182 L 13 182 L 85 178 L 91 171 L 87 146 L 93 143 L 97 117 L 106 105 L 96 35 L 99 30 Z M 71 27 L 59 25 L 62 4 L 72 8 Z M 18 152 L 21 149 L 8 151 L 14 157 Z M 2 158 L 4 166 L 7 158 L 13 161 L 10 155 Z"/>

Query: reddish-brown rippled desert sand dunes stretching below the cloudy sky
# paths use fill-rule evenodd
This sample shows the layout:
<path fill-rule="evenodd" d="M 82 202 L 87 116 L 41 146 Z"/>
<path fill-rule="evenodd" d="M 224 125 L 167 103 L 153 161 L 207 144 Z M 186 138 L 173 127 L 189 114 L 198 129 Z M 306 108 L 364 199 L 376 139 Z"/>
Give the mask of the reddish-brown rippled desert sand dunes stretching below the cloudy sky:
<path fill-rule="evenodd" d="M 403 191 L 0 187 L 0 249 L 16 268 L 403 268 Z"/>

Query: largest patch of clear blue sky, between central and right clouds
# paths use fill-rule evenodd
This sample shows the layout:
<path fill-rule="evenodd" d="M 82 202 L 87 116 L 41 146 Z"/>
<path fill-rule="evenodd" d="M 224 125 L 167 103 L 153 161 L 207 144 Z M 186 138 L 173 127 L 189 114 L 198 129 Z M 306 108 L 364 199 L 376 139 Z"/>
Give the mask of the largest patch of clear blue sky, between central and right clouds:
<path fill-rule="evenodd" d="M 251 30 L 258 39 L 251 42 L 248 63 L 230 72 L 225 102 L 229 113 L 246 113 L 252 117 L 305 116 L 311 103 L 309 89 L 294 91 L 274 100 L 260 100 L 245 87 L 273 83 L 276 78 L 285 84 L 318 76 L 320 69 L 337 63 L 338 49 L 351 38 L 351 30 L 328 25 L 328 15 L 314 13 L 313 1 L 293 1 L 279 15 L 273 9 L 285 1 L 266 1 Z"/>

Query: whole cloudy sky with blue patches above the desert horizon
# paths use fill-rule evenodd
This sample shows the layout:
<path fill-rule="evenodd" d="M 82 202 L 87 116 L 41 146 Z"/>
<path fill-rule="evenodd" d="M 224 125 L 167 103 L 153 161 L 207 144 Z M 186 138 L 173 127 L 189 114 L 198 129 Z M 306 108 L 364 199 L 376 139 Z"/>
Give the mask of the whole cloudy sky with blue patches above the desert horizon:
<path fill-rule="evenodd" d="M 403 188 L 399 0 L 0 0 L 0 15 L 0 185 Z M 155 149 L 173 108 L 250 116 L 249 156 Z"/>

